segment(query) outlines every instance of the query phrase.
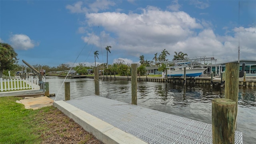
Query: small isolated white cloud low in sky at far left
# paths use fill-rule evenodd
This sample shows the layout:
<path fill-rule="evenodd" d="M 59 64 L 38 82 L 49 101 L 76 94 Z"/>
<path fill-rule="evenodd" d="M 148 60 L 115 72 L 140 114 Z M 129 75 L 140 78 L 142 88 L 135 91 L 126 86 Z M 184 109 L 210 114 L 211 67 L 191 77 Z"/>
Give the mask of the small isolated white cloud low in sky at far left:
<path fill-rule="evenodd" d="M 38 45 L 38 44 L 35 44 L 33 40 L 31 40 L 25 34 L 13 34 L 10 37 L 10 42 L 13 48 L 20 49 L 20 50 L 28 50 Z"/>

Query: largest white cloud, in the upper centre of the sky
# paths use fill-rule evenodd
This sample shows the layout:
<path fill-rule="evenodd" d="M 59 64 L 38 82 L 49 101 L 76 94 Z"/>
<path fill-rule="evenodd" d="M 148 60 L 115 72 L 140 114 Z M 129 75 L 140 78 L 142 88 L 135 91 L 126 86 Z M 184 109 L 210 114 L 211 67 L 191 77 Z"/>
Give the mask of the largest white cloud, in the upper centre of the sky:
<path fill-rule="evenodd" d="M 103 26 L 117 38 L 119 50 L 132 55 L 156 52 L 156 48 L 170 48 L 180 40 L 195 34 L 194 29 L 203 28 L 185 12 L 168 12 L 148 6 L 142 14 L 103 12 L 86 14 L 90 26 Z M 112 45 L 111 45 L 112 46 Z"/>

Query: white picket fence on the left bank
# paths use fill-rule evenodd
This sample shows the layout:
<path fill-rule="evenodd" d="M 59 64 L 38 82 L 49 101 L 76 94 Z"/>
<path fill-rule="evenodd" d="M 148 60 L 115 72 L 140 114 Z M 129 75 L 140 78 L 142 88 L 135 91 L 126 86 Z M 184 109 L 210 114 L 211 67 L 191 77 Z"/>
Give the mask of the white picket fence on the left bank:
<path fill-rule="evenodd" d="M 43 78 L 45 82 L 45 78 Z M 40 89 L 38 78 L 26 78 L 21 79 L 4 79 L 0 78 L 0 92 L 12 91 L 12 90 L 28 90 L 28 89 Z"/>

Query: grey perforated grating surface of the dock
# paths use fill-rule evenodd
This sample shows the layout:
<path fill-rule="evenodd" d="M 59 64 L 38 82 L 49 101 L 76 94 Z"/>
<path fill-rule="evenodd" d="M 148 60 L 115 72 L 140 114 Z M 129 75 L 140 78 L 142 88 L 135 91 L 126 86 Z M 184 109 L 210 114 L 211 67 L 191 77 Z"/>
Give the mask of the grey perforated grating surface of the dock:
<path fill-rule="evenodd" d="M 100 96 L 66 102 L 149 144 L 212 144 L 211 124 Z M 242 144 L 242 132 L 235 132 L 235 144 Z"/>

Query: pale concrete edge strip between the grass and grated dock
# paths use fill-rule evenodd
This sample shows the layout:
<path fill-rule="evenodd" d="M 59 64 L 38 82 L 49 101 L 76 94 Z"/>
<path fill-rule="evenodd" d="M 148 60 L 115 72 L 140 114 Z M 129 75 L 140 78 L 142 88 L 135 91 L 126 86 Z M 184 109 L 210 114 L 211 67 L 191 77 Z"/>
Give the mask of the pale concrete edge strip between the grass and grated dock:
<path fill-rule="evenodd" d="M 54 106 L 72 118 L 84 130 L 93 134 L 104 144 L 147 144 L 143 140 L 120 130 L 95 116 L 92 116 L 64 101 L 54 102 Z"/>

